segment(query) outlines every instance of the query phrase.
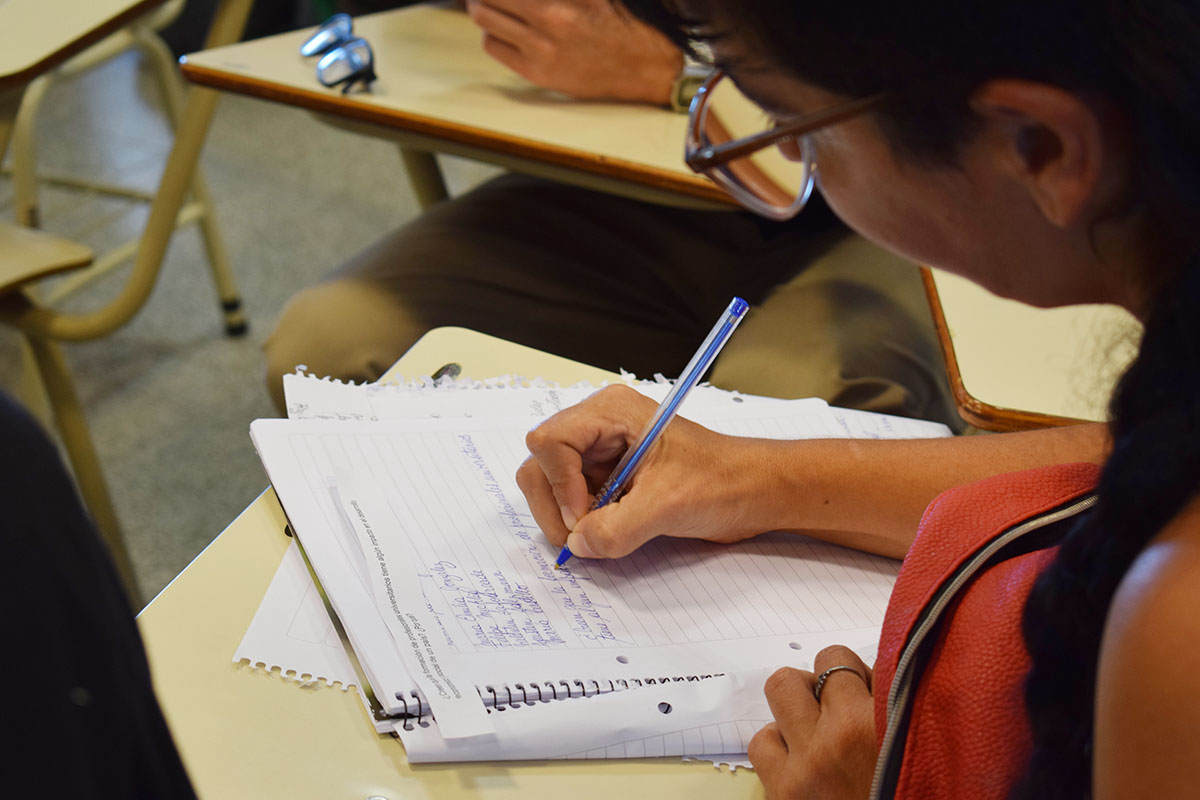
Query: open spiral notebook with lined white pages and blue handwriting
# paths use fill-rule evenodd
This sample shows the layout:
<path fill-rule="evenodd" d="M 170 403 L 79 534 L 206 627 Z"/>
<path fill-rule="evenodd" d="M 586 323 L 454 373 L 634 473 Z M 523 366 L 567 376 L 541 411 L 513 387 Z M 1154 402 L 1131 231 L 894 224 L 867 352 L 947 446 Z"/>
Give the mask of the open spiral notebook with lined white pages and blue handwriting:
<path fill-rule="evenodd" d="M 744 752 L 770 669 L 874 643 L 896 563 L 805 537 L 660 539 L 552 570 L 512 480 L 530 420 L 485 395 L 469 419 L 252 427 L 410 760 Z M 697 410 L 728 433 L 845 435 L 820 402 Z"/>

